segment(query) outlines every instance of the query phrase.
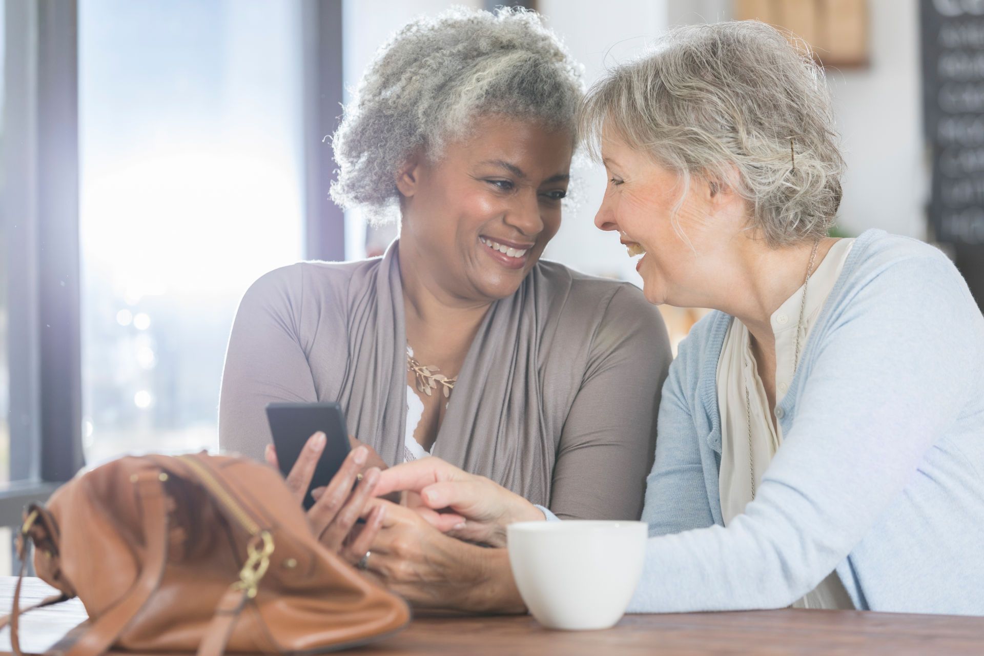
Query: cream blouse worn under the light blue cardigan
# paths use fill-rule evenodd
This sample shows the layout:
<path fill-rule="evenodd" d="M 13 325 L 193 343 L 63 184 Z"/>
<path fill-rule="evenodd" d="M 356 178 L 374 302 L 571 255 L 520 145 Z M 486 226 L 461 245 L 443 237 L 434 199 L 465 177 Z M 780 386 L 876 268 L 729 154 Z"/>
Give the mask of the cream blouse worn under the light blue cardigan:
<path fill-rule="evenodd" d="M 810 276 L 809 293 L 800 336 L 800 358 L 817 322 L 827 297 L 844 267 L 853 239 L 840 239 L 820 266 Z M 803 287 L 787 298 L 772 313 L 772 333 L 775 336 L 775 403 L 785 396 L 793 378 L 796 354 L 796 325 L 799 322 Z M 745 389 L 748 388 L 750 409 L 746 409 Z M 724 337 L 721 356 L 717 362 L 717 403 L 721 416 L 721 468 L 718 482 L 721 495 L 721 516 L 727 525 L 745 511 L 752 501 L 752 462 L 756 489 L 775 451 L 782 444 L 782 428 L 769 417 L 769 398 L 756 369 L 748 328 L 737 319 Z M 752 441 L 749 445 L 749 412 Z M 776 408 L 778 419 L 782 409 Z M 751 462 L 750 462 L 751 459 Z M 831 572 L 812 592 L 793 604 L 796 608 L 854 608 L 840 579 Z"/>

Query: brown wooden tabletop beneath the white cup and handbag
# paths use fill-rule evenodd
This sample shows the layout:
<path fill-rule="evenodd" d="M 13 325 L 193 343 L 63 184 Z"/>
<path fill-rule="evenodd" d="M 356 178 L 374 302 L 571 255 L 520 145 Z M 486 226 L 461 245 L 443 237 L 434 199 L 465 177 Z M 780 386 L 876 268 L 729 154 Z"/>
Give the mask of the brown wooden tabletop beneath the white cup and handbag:
<path fill-rule="evenodd" d="M 0 577 L 0 613 L 15 579 Z M 26 579 L 24 603 L 51 593 Z M 26 653 L 41 653 L 86 620 L 78 600 L 33 611 L 22 620 Z M 0 632 L 0 653 L 10 653 Z M 984 654 L 984 618 L 859 611 L 755 611 L 630 615 L 601 631 L 552 631 L 528 616 L 418 617 L 395 637 L 350 652 L 467 654 Z M 132 656 L 132 655 L 131 655 Z"/>

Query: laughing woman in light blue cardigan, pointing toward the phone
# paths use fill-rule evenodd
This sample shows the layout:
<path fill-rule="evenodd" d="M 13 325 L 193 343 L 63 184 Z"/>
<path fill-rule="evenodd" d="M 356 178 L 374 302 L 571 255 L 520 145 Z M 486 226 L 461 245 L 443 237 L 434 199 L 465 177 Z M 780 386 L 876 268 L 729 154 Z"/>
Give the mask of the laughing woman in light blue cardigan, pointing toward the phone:
<path fill-rule="evenodd" d="M 984 614 L 984 318 L 937 249 L 828 237 L 843 162 L 809 52 L 757 22 L 671 30 L 582 119 L 595 224 L 646 298 L 716 310 L 663 387 L 631 609 Z M 458 532 L 526 505 L 438 459 L 395 489 Z"/>

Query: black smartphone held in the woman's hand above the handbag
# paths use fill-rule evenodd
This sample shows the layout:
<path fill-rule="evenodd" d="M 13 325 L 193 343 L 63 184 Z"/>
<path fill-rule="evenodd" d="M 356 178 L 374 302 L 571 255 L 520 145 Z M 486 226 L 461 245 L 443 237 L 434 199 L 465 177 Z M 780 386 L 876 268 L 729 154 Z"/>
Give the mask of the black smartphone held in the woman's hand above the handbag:
<path fill-rule="evenodd" d="M 280 473 L 284 476 L 290 473 L 312 435 L 321 431 L 327 438 L 311 485 L 304 495 L 304 509 L 309 509 L 314 506 L 311 491 L 331 482 L 350 449 L 341 406 L 338 403 L 270 403 L 267 420 L 274 435 Z"/>

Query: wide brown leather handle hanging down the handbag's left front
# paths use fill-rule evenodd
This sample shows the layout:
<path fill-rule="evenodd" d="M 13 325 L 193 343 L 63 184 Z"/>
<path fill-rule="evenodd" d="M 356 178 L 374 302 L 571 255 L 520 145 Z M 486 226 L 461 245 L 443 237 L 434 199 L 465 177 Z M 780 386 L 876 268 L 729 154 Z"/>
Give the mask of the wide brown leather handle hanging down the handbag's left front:
<path fill-rule="evenodd" d="M 140 576 L 116 604 L 79 636 L 64 656 L 100 656 L 144 608 L 160 584 L 167 561 L 167 508 L 158 472 L 141 474 L 136 482 L 144 519 L 147 554 Z M 53 653 L 53 652 L 49 652 Z M 18 655 L 20 656 L 20 654 Z"/>

